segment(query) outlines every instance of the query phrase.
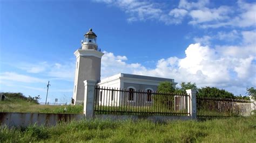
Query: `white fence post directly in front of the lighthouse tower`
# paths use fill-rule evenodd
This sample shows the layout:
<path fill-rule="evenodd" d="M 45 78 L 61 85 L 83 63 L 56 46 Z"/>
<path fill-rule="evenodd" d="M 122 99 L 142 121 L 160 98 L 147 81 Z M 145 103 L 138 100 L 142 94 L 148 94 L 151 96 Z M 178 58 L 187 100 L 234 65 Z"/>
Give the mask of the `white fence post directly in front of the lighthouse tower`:
<path fill-rule="evenodd" d="M 94 115 L 95 85 L 96 81 L 84 81 L 84 115 L 92 119 Z"/>

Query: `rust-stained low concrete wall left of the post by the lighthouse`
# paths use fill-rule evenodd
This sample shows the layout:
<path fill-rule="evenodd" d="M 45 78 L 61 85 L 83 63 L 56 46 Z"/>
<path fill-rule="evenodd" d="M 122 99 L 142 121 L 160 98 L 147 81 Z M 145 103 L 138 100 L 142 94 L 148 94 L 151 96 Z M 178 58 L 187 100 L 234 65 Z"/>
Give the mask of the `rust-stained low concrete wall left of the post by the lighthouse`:
<path fill-rule="evenodd" d="M 0 112 L 0 125 L 9 127 L 27 127 L 34 124 L 53 126 L 59 121 L 70 122 L 82 119 L 84 114 Z"/>

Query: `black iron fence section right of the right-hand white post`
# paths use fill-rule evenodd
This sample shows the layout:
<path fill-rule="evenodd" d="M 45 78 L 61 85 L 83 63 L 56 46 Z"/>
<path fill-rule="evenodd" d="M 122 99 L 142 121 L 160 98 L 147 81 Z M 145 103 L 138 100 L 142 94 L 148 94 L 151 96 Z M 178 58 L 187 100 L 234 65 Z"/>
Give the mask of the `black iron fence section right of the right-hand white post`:
<path fill-rule="evenodd" d="M 250 116 L 252 102 L 248 99 L 197 97 L 197 117 L 219 118 Z"/>

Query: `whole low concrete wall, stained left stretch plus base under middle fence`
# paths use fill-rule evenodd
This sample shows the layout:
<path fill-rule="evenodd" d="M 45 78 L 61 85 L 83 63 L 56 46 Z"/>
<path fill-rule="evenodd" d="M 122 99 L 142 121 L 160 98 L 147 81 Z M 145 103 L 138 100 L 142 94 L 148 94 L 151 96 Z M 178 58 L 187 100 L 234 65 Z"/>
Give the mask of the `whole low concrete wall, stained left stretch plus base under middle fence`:
<path fill-rule="evenodd" d="M 54 126 L 60 121 L 70 122 L 72 120 L 83 120 L 84 114 L 60 114 L 60 113 L 14 113 L 0 112 L 0 125 L 8 127 L 27 127 L 29 125 Z M 87 118 L 91 119 L 91 118 Z M 190 120 L 190 116 L 128 116 L 128 115 L 95 115 L 94 119 L 110 120 L 139 120 L 147 119 L 154 122 L 165 122 L 170 120 Z"/>

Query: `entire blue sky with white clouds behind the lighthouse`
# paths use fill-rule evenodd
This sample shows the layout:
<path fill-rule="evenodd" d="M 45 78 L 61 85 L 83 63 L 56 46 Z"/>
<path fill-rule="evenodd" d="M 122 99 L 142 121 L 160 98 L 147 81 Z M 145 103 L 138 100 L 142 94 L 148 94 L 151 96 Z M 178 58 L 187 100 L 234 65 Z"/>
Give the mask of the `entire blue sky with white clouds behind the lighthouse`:
<path fill-rule="evenodd" d="M 70 101 L 75 55 L 92 28 L 102 78 L 174 78 L 245 95 L 256 87 L 253 1 L 0 1 L 0 91 Z"/>

